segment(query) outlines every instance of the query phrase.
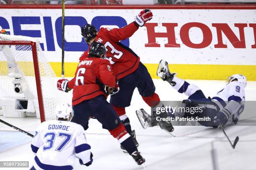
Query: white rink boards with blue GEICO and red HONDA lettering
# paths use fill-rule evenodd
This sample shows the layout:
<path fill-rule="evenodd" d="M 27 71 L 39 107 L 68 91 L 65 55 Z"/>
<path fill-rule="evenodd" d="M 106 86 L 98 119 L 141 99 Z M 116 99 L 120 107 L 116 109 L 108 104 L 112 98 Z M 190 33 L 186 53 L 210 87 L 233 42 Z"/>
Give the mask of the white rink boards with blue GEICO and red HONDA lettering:
<path fill-rule="evenodd" d="M 11 35 L 37 37 L 49 61 L 61 61 L 61 9 L 0 9 L 0 28 Z M 66 9 L 65 61 L 77 62 L 88 45 L 87 23 L 121 28 L 141 10 Z M 256 65 L 255 10 L 158 10 L 127 40 L 145 63 Z"/>

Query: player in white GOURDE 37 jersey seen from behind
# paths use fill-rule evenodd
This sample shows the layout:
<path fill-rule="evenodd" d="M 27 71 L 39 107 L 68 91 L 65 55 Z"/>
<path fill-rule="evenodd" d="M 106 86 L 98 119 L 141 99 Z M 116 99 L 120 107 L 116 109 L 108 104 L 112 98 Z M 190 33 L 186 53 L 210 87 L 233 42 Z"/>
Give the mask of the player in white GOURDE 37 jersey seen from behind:
<path fill-rule="evenodd" d="M 72 170 L 75 157 L 81 165 L 92 164 L 91 147 L 84 128 L 69 122 L 74 115 L 68 104 L 56 107 L 56 119 L 42 122 L 37 128 L 31 148 L 36 154 L 31 170 Z"/>

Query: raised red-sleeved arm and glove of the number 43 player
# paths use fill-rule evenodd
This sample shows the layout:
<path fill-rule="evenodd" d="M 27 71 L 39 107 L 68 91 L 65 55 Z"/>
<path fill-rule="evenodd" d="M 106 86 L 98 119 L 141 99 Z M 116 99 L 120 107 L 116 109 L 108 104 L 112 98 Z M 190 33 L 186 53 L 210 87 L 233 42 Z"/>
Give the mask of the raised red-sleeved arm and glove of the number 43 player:
<path fill-rule="evenodd" d="M 118 42 L 120 40 L 125 40 L 128 37 L 131 37 L 134 32 L 138 30 L 139 27 L 142 27 L 148 20 L 151 20 L 153 14 L 150 9 L 142 10 L 136 17 L 135 21 L 126 25 L 123 28 L 107 28 L 107 35 L 111 40 Z"/>

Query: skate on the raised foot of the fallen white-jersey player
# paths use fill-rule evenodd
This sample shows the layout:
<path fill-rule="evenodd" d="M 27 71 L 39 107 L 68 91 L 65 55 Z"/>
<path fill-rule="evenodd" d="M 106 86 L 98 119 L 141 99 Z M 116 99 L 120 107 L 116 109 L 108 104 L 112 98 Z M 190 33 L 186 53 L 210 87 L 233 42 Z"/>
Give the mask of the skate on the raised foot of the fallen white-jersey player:
<path fill-rule="evenodd" d="M 170 85 L 176 85 L 176 82 L 172 81 L 172 79 L 177 74 L 169 71 L 168 62 L 165 60 L 160 60 L 156 75 L 162 80 L 169 82 Z"/>

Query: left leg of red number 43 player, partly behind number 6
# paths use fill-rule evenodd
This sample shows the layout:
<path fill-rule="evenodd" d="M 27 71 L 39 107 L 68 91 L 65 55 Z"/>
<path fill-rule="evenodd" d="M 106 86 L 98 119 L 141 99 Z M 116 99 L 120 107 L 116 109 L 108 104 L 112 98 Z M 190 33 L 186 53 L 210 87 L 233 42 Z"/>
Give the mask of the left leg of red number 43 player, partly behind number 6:
<path fill-rule="evenodd" d="M 125 126 L 126 131 L 132 136 L 136 146 L 138 147 L 139 144 L 136 140 L 135 130 L 131 130 L 130 120 L 125 114 L 125 107 L 131 105 L 131 98 L 136 87 L 136 76 L 134 72 L 118 80 L 118 84 L 120 90 L 118 93 L 110 97 L 110 103 Z M 123 151 L 125 152 L 125 150 Z"/>

